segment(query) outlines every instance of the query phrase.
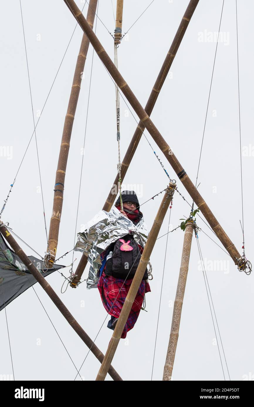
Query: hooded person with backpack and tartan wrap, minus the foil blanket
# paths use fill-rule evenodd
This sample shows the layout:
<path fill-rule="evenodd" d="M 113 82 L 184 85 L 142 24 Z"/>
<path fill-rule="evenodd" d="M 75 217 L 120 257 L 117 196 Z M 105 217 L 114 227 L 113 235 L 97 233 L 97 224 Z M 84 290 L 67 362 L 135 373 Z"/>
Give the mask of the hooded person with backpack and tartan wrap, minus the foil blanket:
<path fill-rule="evenodd" d="M 123 210 L 121 210 L 120 206 L 120 197 L 115 203 L 115 208 L 121 212 L 123 217 L 128 218 L 134 225 L 138 225 L 143 218 L 143 214 L 139 210 L 136 193 L 134 191 L 123 191 L 121 197 Z M 114 330 L 116 326 L 143 249 L 143 245 L 138 244 L 134 240 L 133 234 L 129 233 L 111 243 L 102 254 L 104 262 L 102 263 L 103 266 L 97 287 L 104 308 L 111 315 L 107 325 L 110 329 Z M 126 338 L 127 332 L 134 327 L 144 302 L 145 293 L 149 291 L 151 289 L 146 269 L 121 338 Z"/>

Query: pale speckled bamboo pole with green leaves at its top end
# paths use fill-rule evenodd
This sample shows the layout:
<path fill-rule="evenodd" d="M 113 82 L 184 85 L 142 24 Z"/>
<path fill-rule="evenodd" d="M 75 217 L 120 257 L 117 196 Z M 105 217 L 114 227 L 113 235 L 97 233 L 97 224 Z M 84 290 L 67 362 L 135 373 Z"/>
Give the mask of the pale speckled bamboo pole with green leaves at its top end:
<path fill-rule="evenodd" d="M 190 260 L 190 247 L 192 242 L 194 224 L 193 222 L 186 223 L 186 229 L 183 239 L 183 251 L 181 258 L 181 267 L 179 279 L 177 284 L 177 293 L 174 300 L 174 311 L 172 316 L 172 324 L 170 331 L 170 338 L 168 343 L 168 351 L 166 356 L 166 363 L 163 372 L 163 381 L 171 380 L 172 369 L 174 365 L 175 352 L 177 350 L 177 341 L 179 337 L 179 326 L 181 319 L 181 312 L 183 306 L 183 296 L 186 287 L 186 280 L 188 274 L 189 260 Z"/>

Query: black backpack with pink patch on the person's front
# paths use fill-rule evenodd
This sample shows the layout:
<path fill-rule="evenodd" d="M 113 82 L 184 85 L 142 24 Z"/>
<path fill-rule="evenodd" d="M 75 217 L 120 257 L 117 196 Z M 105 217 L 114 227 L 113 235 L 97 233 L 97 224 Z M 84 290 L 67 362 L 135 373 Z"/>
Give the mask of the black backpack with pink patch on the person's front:
<path fill-rule="evenodd" d="M 113 251 L 113 255 L 106 262 L 106 276 L 123 278 L 124 280 L 133 278 L 141 258 L 141 251 L 133 236 L 126 235 L 118 239 L 114 246 L 110 247 L 110 250 Z M 148 272 L 146 269 L 142 280 L 147 279 Z"/>

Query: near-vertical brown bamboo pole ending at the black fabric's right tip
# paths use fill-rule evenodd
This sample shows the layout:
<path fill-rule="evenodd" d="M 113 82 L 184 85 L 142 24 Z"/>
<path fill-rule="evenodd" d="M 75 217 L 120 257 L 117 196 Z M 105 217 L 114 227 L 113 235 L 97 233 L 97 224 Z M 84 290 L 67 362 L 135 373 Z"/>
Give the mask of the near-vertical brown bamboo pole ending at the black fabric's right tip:
<path fill-rule="evenodd" d="M 97 7 L 98 0 L 90 0 L 88 11 L 87 11 L 87 22 L 93 29 L 93 22 L 95 18 L 95 11 Z M 80 94 L 80 86 L 82 81 L 82 73 L 84 71 L 84 66 L 86 62 L 86 56 L 89 47 L 89 40 L 85 34 L 83 34 L 82 42 L 80 45 L 80 51 L 77 57 L 76 68 L 73 77 L 73 84 L 71 87 L 71 94 L 68 103 L 67 113 L 64 120 L 64 129 L 62 134 L 62 141 L 60 146 L 60 153 L 57 164 L 57 171 L 55 175 L 55 187 L 54 187 L 54 201 L 53 201 L 53 210 L 50 220 L 49 227 L 49 241 L 48 249 L 49 253 L 49 267 L 55 260 L 55 254 L 57 250 L 58 243 L 58 234 L 60 227 L 60 219 L 62 214 L 63 206 L 63 195 L 64 195 L 64 179 L 66 173 L 66 165 L 68 160 L 68 153 L 70 148 L 71 141 L 71 132 L 73 127 L 74 116 L 77 107 L 77 101 Z"/>

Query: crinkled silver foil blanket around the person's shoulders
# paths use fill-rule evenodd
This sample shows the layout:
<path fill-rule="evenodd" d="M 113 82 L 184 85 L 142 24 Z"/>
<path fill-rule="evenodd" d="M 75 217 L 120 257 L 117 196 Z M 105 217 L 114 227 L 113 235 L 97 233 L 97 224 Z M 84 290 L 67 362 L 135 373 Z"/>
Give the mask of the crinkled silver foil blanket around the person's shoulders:
<path fill-rule="evenodd" d="M 77 234 L 75 250 L 88 256 L 90 269 L 86 280 L 88 289 L 97 287 L 99 268 L 102 265 L 100 255 L 108 246 L 122 236 L 133 234 L 133 239 L 141 246 L 146 244 L 148 229 L 142 217 L 137 225 L 125 217 L 115 206 L 110 212 L 101 210 L 89 221 L 84 231 Z"/>

